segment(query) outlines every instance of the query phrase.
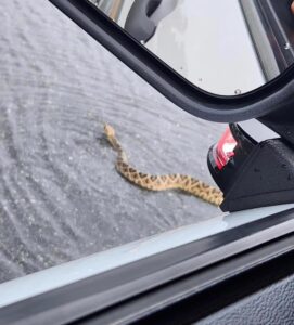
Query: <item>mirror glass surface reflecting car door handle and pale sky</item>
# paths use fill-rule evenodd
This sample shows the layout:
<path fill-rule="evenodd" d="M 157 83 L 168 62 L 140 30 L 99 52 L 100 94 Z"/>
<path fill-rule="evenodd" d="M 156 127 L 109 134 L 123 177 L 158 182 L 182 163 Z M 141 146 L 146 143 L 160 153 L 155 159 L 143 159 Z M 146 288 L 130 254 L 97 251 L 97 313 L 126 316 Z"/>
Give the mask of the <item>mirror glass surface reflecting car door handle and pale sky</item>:
<path fill-rule="evenodd" d="M 289 0 L 87 1 L 210 93 L 246 93 L 294 62 Z"/>

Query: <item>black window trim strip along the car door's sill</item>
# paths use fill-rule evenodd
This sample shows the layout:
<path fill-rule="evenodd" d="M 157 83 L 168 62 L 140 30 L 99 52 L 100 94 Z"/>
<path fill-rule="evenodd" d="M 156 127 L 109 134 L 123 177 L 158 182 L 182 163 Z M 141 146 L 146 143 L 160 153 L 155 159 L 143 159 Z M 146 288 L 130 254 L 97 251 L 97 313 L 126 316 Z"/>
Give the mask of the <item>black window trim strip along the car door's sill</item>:
<path fill-rule="evenodd" d="M 130 322 L 163 317 L 171 306 L 184 309 L 184 301 L 202 301 L 210 291 L 225 295 L 205 300 L 206 312 L 193 314 L 203 317 L 293 274 L 293 217 L 294 209 L 283 211 L 16 302 L 0 309 L 0 320 L 3 324 L 80 324 L 86 317 L 107 324 L 124 316 Z"/>

